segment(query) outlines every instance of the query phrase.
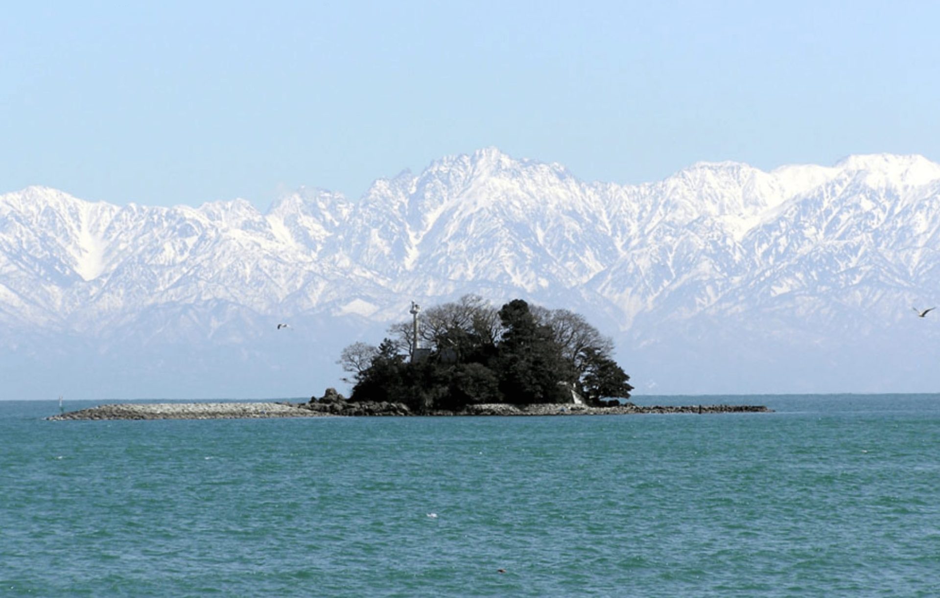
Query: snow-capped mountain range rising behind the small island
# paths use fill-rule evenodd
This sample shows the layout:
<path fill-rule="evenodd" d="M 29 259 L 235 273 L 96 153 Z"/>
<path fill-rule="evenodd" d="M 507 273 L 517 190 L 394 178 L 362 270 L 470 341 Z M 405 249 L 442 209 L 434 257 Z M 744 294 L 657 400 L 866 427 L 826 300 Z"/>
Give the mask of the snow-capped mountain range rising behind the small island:
<path fill-rule="evenodd" d="M 620 185 L 481 149 L 267 212 L 29 187 L 0 196 L 0 398 L 319 394 L 343 346 L 468 292 L 586 315 L 639 394 L 934 391 L 938 235 L 916 155 Z"/>

